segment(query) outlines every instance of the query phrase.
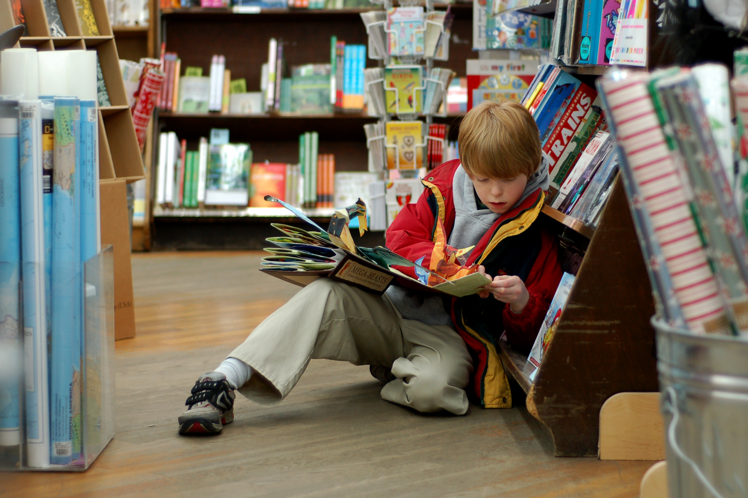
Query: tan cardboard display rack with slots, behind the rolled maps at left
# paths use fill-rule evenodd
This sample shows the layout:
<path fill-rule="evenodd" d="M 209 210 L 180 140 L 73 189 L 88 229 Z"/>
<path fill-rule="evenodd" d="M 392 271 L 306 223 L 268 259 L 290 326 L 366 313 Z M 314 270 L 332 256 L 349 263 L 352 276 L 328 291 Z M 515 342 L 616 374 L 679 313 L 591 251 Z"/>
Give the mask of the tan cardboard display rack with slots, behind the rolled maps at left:
<path fill-rule="evenodd" d="M 75 0 L 56 0 L 66 37 L 50 36 L 43 0 L 21 0 L 28 37 L 17 46 L 46 50 L 96 50 L 111 106 L 99 107 L 99 177 L 102 180 L 102 244 L 114 245 L 114 321 L 117 339 L 135 336 L 129 220 L 125 183 L 145 178 L 143 159 L 127 105 L 120 60 L 104 0 L 90 0 L 99 36 L 83 36 Z M 13 28 L 10 0 L 0 0 L 0 32 Z M 111 184 L 110 184 L 111 183 Z M 124 217 L 121 216 L 124 213 Z M 127 304 L 129 303 L 129 304 Z"/>

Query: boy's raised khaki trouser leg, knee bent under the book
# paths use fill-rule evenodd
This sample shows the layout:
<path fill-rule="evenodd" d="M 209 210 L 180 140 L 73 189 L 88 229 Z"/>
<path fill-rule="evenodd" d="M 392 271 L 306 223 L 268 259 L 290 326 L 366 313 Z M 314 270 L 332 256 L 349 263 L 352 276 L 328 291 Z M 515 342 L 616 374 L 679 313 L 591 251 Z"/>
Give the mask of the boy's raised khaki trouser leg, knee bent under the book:
<path fill-rule="evenodd" d="M 391 365 L 405 354 L 399 317 L 388 299 L 329 278 L 301 289 L 230 353 L 254 370 L 239 392 L 275 404 L 311 358 Z"/>

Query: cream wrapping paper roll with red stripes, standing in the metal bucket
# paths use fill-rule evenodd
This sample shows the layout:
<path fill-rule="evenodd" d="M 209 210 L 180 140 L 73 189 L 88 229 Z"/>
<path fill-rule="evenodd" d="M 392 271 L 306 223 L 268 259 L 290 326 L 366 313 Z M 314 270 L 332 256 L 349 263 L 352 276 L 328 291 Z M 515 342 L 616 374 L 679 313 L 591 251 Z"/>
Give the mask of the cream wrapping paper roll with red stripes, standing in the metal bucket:
<path fill-rule="evenodd" d="M 649 218 L 646 229 L 651 232 L 640 236 L 650 238 L 655 251 L 647 261 L 650 275 L 669 277 L 653 282 L 653 287 L 660 289 L 660 299 L 669 308 L 674 298 L 691 332 L 728 334 L 728 314 L 649 98 L 648 78 L 643 73 L 613 71 L 598 84 L 625 155 L 621 169 L 628 170 L 635 187 L 631 203 L 640 205 Z"/>

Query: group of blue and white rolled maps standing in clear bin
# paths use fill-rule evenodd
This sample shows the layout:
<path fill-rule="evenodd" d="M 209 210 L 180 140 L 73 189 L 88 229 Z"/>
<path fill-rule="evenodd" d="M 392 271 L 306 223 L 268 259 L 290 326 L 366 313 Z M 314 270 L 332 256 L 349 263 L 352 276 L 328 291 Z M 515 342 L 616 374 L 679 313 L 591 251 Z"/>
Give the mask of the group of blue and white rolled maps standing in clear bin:
<path fill-rule="evenodd" d="M 84 310 L 101 290 L 83 275 L 101 247 L 96 52 L 7 49 L 0 65 L 0 449 L 78 466 Z"/>

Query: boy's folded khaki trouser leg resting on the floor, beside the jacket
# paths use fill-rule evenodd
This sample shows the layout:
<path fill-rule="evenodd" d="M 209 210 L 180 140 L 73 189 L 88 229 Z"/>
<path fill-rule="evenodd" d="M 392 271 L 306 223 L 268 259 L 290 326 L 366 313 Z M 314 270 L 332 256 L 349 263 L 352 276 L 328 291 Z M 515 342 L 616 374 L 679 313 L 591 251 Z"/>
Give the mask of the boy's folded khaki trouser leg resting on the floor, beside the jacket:
<path fill-rule="evenodd" d="M 465 341 L 450 326 L 405 319 L 400 326 L 402 336 L 413 346 L 406 358 L 394 361 L 392 373 L 397 379 L 382 388 L 381 397 L 417 411 L 464 415 L 468 411 L 465 388 L 473 373 Z"/>

